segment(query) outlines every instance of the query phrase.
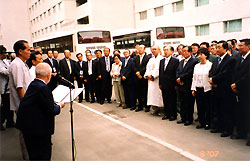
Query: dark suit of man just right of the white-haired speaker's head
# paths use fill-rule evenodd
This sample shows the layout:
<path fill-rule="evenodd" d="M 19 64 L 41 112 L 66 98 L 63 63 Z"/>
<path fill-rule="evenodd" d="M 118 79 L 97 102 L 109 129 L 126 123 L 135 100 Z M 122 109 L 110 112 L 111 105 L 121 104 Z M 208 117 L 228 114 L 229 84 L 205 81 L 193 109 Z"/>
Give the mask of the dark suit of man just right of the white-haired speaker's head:
<path fill-rule="evenodd" d="M 53 64 L 51 64 L 49 58 L 45 59 L 44 62 L 49 64 L 49 66 L 52 69 L 52 73 L 59 74 L 59 65 L 56 59 L 52 58 Z M 57 83 L 58 83 L 58 75 L 52 76 L 50 82 L 48 83 L 48 86 L 51 89 L 51 91 L 53 91 L 57 87 Z"/>

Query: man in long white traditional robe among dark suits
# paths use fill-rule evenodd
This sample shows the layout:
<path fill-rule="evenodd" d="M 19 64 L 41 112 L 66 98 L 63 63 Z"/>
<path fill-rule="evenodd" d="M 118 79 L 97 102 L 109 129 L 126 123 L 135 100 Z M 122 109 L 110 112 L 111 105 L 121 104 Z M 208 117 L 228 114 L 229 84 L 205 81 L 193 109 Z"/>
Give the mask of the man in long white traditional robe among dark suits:
<path fill-rule="evenodd" d="M 148 79 L 148 99 L 147 105 L 152 106 L 152 114 L 158 115 L 163 109 L 162 93 L 159 89 L 159 67 L 163 56 L 160 54 L 160 47 L 155 45 L 151 47 L 153 57 L 149 60 L 144 77 Z"/>

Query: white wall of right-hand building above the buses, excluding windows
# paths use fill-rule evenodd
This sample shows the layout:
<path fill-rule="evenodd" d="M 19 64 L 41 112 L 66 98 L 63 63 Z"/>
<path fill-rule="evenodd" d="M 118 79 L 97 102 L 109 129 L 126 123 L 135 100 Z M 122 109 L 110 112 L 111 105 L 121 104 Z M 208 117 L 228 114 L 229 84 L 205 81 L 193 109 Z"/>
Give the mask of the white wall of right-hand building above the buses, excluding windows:
<path fill-rule="evenodd" d="M 195 7 L 195 0 L 184 0 L 184 9 L 173 12 L 172 3 L 179 0 L 136 0 L 136 26 L 184 26 L 186 38 L 192 41 L 211 41 L 250 37 L 250 0 L 209 0 L 209 4 Z M 154 8 L 163 6 L 163 15 L 156 17 Z M 147 19 L 140 20 L 140 12 L 147 11 Z M 242 31 L 224 33 L 224 21 L 242 19 Z M 195 26 L 209 24 L 209 35 L 196 36 Z M 191 40 L 189 40 L 191 42 Z"/>

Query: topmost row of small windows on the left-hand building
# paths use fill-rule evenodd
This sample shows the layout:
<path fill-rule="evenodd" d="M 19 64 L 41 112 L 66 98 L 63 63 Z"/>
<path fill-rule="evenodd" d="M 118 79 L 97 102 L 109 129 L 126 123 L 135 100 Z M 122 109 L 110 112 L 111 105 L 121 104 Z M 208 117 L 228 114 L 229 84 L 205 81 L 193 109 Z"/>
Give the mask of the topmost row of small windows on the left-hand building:
<path fill-rule="evenodd" d="M 52 13 L 56 13 L 57 11 L 60 11 L 61 10 L 61 4 L 62 4 L 62 2 L 56 4 L 52 8 L 50 8 L 47 11 L 43 12 L 42 14 L 40 14 L 40 16 L 37 16 L 36 18 L 34 18 L 33 20 L 31 20 L 30 21 L 31 25 L 36 24 L 39 21 L 42 21 L 47 16 L 51 16 Z"/>

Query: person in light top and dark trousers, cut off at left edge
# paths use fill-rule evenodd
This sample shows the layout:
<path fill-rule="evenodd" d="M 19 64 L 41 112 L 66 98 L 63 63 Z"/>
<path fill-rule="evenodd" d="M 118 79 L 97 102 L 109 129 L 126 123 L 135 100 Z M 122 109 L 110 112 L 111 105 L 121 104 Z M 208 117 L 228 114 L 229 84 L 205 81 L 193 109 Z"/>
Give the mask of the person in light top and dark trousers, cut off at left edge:
<path fill-rule="evenodd" d="M 3 126 L 5 120 L 6 127 L 14 127 L 13 111 L 10 111 L 10 94 L 9 94 L 9 62 L 6 60 L 6 48 L 0 46 L 0 94 L 1 94 L 1 107 L 0 118 L 1 127 L 0 130 L 5 130 Z"/>

